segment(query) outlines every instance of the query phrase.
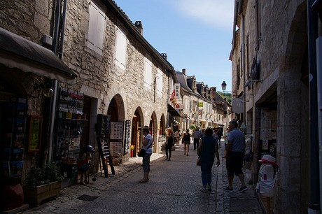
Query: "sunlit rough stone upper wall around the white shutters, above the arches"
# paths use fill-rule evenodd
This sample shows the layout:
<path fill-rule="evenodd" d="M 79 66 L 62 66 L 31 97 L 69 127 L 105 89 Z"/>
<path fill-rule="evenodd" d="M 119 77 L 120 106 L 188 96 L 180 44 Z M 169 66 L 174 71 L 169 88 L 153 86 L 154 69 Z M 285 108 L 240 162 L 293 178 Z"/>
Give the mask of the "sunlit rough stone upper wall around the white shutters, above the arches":
<path fill-rule="evenodd" d="M 146 47 L 142 47 L 129 31 L 118 22 L 113 13 L 106 10 L 106 28 L 104 36 L 104 50 L 102 56 L 97 55 L 89 48 L 85 47 L 88 28 L 88 5 L 79 1 L 69 1 L 69 10 L 66 16 L 66 33 L 64 44 L 64 62 L 74 69 L 79 78 L 73 87 L 77 90 L 85 91 L 86 95 L 95 97 L 105 105 L 99 107 L 99 113 L 106 113 L 109 102 L 114 95 L 120 94 L 125 104 L 125 117 L 131 119 L 134 110 L 141 106 L 146 111 L 144 115 L 146 122 L 153 110 L 158 118 L 167 112 L 167 73 L 163 76 L 163 95 L 161 99 L 155 99 L 153 103 L 154 91 L 144 90 L 143 71 L 144 56 L 148 55 Z M 116 28 L 121 27 L 127 35 L 127 65 L 125 72 L 118 71 L 114 64 L 116 49 Z M 165 67 L 155 59 L 153 62 L 153 77 L 157 73 L 157 68 L 165 71 Z"/>

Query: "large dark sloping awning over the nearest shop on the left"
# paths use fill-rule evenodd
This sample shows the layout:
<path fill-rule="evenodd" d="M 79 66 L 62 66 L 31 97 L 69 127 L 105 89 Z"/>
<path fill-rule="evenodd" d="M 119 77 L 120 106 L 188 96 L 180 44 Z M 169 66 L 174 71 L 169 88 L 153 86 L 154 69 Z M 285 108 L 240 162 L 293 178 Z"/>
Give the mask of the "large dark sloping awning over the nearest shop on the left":
<path fill-rule="evenodd" d="M 0 27 L 0 64 L 73 84 L 77 77 L 51 50 Z"/>

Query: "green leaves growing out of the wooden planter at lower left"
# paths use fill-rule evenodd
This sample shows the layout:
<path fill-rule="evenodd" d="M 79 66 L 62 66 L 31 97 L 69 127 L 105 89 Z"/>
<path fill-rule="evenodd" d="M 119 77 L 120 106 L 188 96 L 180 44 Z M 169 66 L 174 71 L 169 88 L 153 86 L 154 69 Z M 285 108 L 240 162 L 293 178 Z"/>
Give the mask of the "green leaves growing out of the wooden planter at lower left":
<path fill-rule="evenodd" d="M 62 181 L 63 176 L 60 174 L 59 166 L 55 162 L 46 164 L 43 168 L 31 167 L 25 179 L 26 185 L 34 190 L 38 185 L 52 183 L 54 181 Z"/>

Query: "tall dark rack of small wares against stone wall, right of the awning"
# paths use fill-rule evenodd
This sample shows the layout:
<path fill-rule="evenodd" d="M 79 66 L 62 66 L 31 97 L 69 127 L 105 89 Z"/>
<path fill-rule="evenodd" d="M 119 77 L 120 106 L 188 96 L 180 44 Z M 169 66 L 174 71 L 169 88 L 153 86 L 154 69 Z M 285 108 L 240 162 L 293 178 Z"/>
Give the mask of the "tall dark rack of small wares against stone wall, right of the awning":
<path fill-rule="evenodd" d="M 59 89 L 55 158 L 61 161 L 62 175 L 69 178 L 71 183 L 77 182 L 80 138 L 83 123 L 88 121 L 83 113 L 83 101 L 83 93 L 77 90 Z"/>

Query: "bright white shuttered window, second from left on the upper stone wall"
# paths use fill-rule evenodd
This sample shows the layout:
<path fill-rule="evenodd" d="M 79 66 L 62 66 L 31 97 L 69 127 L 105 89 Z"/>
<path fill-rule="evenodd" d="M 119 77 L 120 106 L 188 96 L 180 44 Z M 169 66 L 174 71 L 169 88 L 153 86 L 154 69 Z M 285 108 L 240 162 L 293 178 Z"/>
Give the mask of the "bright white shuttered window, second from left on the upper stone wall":
<path fill-rule="evenodd" d="M 126 64 L 127 38 L 123 31 L 116 31 L 116 65 L 125 71 Z"/>

